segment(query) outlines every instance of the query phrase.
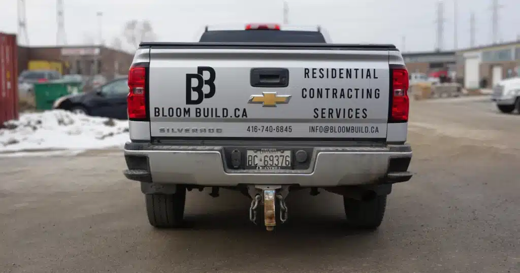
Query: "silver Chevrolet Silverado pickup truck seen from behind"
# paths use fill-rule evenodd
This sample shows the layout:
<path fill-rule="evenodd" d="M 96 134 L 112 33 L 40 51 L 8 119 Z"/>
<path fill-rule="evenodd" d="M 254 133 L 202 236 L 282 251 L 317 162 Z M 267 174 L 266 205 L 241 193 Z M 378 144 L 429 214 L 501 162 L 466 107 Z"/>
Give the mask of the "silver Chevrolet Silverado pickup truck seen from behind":
<path fill-rule="evenodd" d="M 412 177 L 408 80 L 395 46 L 331 44 L 319 27 L 141 43 L 124 175 L 158 228 L 182 226 L 186 191 L 207 187 L 251 198 L 250 220 L 267 230 L 288 219 L 291 191 L 318 188 L 344 197 L 347 226 L 376 229 L 392 185 Z"/>

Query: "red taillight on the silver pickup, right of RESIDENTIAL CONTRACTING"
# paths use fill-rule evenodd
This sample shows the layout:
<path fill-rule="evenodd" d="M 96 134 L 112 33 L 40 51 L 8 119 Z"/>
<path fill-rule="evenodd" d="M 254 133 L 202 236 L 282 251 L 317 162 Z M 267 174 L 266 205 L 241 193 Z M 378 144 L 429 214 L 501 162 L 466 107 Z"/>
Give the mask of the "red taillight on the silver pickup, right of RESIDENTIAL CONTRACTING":
<path fill-rule="evenodd" d="M 407 122 L 410 101 L 408 98 L 408 71 L 392 69 L 392 116 L 389 122 Z"/>

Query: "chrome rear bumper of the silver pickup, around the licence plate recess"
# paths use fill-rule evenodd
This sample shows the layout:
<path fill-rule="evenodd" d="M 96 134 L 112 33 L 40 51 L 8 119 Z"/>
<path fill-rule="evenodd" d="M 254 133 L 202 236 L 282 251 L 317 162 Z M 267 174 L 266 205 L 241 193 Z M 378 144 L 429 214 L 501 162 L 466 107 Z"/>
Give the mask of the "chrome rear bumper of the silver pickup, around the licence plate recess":
<path fill-rule="evenodd" d="M 232 170 L 222 146 L 161 146 L 128 142 L 128 179 L 157 184 L 201 186 L 299 185 L 333 187 L 408 181 L 409 145 L 314 147 L 306 170 Z"/>

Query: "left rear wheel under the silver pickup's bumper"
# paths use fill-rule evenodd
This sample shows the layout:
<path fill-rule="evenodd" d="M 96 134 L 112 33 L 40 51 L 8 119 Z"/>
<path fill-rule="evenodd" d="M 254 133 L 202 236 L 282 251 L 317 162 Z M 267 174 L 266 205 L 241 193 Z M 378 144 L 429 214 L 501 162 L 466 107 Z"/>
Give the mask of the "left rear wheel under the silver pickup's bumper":
<path fill-rule="evenodd" d="M 145 194 L 148 222 L 156 228 L 179 227 L 184 219 L 186 188 L 177 187 L 174 194 Z"/>

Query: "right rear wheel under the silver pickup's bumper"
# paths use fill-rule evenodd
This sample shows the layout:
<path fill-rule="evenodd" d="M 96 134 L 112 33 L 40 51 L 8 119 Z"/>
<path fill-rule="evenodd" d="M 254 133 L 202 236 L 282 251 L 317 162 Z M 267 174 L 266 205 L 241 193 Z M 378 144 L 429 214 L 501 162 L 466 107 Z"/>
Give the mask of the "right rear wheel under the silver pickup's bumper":
<path fill-rule="evenodd" d="M 376 196 L 369 201 L 343 197 L 347 222 L 357 229 L 375 230 L 383 222 L 386 209 L 386 195 Z"/>

